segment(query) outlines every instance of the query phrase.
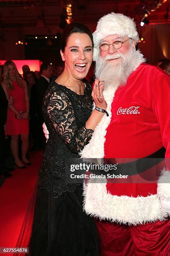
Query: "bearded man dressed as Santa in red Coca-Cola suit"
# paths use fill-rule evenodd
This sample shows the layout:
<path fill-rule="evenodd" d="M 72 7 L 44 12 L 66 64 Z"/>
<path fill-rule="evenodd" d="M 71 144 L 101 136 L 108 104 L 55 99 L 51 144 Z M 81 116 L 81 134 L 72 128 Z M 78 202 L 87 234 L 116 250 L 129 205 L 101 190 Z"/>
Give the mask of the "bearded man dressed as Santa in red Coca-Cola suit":
<path fill-rule="evenodd" d="M 103 95 L 109 116 L 103 116 L 81 156 L 162 157 L 165 147 L 168 163 L 170 77 L 144 63 L 143 55 L 135 49 L 139 40 L 135 23 L 125 15 L 103 16 L 93 40 L 95 76 L 105 81 Z M 161 164 L 150 170 L 154 168 L 161 169 Z M 131 167 L 133 175 L 128 182 L 113 183 L 106 179 L 85 186 L 84 209 L 97 217 L 104 255 L 170 255 L 168 169 L 167 164 L 158 184 L 144 181 L 146 170 L 140 170 L 138 182 L 139 175 Z"/>

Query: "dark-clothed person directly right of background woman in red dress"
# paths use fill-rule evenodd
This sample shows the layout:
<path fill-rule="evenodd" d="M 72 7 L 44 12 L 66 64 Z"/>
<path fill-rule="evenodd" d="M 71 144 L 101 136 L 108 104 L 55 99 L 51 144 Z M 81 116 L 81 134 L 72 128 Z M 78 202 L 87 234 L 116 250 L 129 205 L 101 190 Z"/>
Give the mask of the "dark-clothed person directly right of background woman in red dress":
<path fill-rule="evenodd" d="M 37 103 L 37 78 L 35 77 L 34 72 L 30 71 L 26 74 L 26 81 L 28 90 L 30 91 L 30 133 L 34 143 L 30 150 L 38 151 L 41 149 L 41 136 Z"/>

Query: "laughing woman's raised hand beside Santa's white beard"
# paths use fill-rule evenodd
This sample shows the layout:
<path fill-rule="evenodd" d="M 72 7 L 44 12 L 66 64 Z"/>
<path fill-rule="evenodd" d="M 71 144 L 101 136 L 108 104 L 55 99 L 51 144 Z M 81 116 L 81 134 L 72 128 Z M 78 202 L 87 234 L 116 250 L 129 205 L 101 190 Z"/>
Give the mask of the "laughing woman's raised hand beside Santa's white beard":
<path fill-rule="evenodd" d="M 97 108 L 106 110 L 107 102 L 105 101 L 102 93 L 103 89 L 104 89 L 104 81 L 99 81 L 99 78 L 97 77 L 95 79 L 95 84 L 92 90 L 92 98 Z"/>

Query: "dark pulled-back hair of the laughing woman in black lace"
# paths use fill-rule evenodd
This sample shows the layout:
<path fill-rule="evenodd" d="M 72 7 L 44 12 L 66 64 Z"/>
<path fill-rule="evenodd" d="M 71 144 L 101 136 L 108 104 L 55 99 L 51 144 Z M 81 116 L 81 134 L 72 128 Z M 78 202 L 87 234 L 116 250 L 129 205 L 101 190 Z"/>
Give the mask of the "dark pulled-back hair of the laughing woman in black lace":
<path fill-rule="evenodd" d="M 87 28 L 87 26 L 85 26 L 82 23 L 73 22 L 70 25 L 67 25 L 67 27 L 65 28 L 65 30 L 63 31 L 63 33 L 61 35 L 60 49 L 62 50 L 62 52 L 65 51 L 65 47 L 67 45 L 68 38 L 73 33 L 87 34 L 92 41 L 92 48 L 93 48 L 94 44 L 93 44 L 93 39 L 92 39 L 92 33 L 90 32 L 89 28 Z"/>

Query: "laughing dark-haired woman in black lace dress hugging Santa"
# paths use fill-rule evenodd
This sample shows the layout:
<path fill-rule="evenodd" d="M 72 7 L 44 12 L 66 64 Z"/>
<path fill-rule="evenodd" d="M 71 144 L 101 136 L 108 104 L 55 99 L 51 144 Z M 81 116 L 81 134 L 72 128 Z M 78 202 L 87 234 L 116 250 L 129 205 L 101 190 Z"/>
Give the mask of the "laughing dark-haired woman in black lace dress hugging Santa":
<path fill-rule="evenodd" d="M 99 256 L 94 219 L 82 210 L 82 185 L 69 184 L 65 161 L 77 158 L 105 112 L 103 83 L 92 88 L 86 77 L 92 63 L 93 41 L 89 29 L 71 23 L 61 38 L 62 74 L 49 85 L 43 102 L 49 131 L 39 174 L 30 255 Z M 91 97 L 92 93 L 92 97 Z M 90 115 L 91 114 L 91 115 Z"/>

